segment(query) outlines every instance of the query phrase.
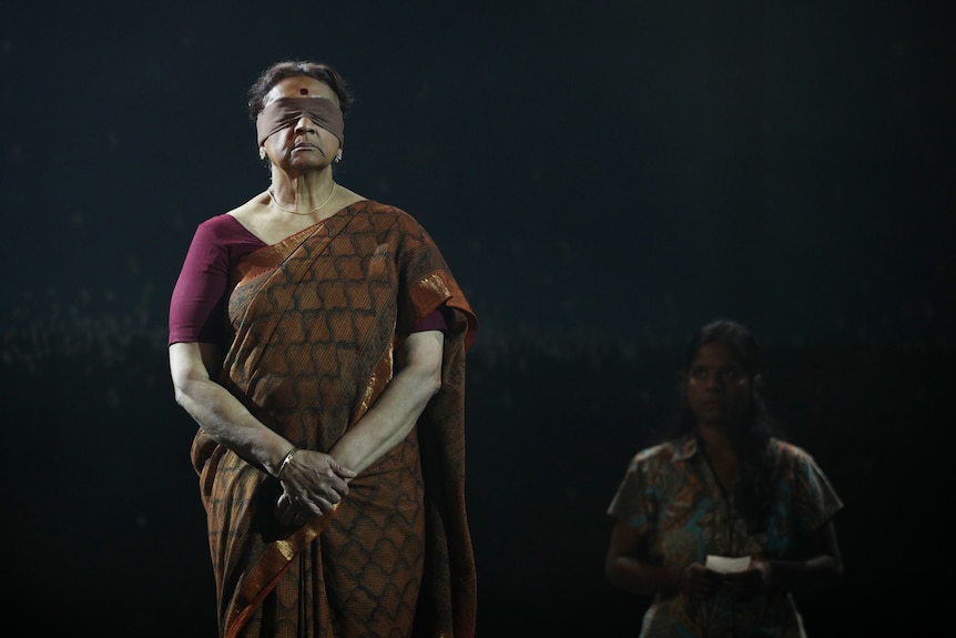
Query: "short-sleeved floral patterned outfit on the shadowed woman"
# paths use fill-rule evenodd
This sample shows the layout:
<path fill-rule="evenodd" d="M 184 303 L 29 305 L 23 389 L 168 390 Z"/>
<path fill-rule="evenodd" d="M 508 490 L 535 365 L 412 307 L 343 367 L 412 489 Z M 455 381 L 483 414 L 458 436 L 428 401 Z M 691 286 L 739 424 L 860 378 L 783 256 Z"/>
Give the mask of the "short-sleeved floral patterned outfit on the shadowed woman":
<path fill-rule="evenodd" d="M 804 449 L 776 438 L 770 446 L 779 484 L 763 531 L 747 531 L 735 490 L 723 492 L 693 435 L 639 452 L 608 514 L 649 538 L 655 565 L 703 564 L 709 555 L 785 558 L 797 537 L 827 523 L 843 502 Z M 702 600 L 658 594 L 644 614 L 640 636 L 803 638 L 805 632 L 790 593 L 742 601 L 718 587 Z"/>

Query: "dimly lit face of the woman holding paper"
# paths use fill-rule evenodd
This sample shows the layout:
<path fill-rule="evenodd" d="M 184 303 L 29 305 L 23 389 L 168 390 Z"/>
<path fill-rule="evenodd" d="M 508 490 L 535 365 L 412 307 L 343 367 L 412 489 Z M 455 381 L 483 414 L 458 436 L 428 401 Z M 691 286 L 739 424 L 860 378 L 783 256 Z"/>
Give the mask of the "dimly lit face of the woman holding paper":
<path fill-rule="evenodd" d="M 688 371 L 688 404 L 699 425 L 735 427 L 753 402 L 751 376 L 720 343 L 704 344 Z"/>

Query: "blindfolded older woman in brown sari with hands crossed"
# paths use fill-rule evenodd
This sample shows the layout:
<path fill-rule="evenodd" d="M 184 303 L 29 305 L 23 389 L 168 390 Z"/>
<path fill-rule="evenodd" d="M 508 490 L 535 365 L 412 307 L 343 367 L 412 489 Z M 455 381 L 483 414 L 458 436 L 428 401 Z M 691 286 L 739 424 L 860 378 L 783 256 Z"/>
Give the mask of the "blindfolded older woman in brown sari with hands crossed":
<path fill-rule="evenodd" d="M 476 317 L 408 213 L 336 183 L 350 101 L 326 64 L 262 73 L 271 184 L 199 225 L 172 294 L 221 636 L 474 635 Z"/>

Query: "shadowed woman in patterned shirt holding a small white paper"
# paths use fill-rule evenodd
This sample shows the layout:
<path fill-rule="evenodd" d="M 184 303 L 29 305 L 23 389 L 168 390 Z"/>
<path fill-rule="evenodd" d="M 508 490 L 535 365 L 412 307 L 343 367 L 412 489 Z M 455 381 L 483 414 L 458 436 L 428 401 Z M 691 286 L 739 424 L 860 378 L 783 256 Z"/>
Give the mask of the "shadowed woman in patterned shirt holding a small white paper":
<path fill-rule="evenodd" d="M 677 431 L 633 457 L 608 509 L 608 580 L 653 596 L 642 637 L 800 638 L 792 593 L 843 573 L 843 503 L 810 454 L 774 435 L 759 364 L 743 325 L 700 328 Z"/>

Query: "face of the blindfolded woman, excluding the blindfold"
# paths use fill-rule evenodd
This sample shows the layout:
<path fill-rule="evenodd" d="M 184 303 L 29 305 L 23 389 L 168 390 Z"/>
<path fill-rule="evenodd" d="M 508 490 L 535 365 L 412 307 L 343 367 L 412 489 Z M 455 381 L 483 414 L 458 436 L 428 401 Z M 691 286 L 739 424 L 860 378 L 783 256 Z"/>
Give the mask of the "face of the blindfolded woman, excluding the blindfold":
<path fill-rule="evenodd" d="M 263 107 L 279 98 L 326 99 L 338 105 L 338 97 L 328 84 L 307 75 L 281 80 L 268 92 Z M 340 148 L 338 138 L 307 117 L 269 135 L 263 146 L 272 163 L 286 171 L 323 169 L 333 162 Z"/>

